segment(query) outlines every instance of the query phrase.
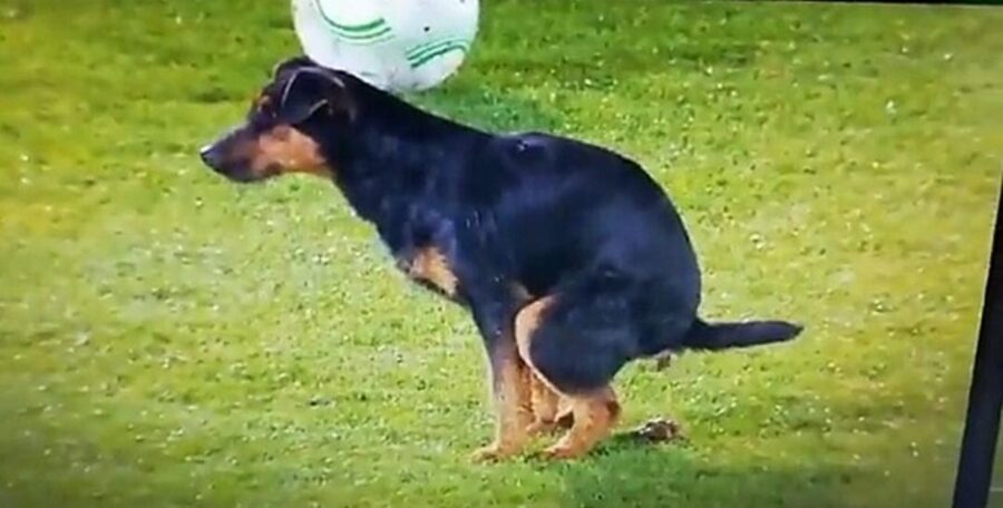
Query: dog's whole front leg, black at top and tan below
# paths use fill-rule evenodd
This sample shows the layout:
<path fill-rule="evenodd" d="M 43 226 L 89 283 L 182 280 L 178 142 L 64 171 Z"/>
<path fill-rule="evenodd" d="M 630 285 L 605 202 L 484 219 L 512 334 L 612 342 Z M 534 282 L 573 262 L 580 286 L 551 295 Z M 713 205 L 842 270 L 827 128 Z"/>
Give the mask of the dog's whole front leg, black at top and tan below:
<path fill-rule="evenodd" d="M 474 453 L 474 460 L 498 460 L 519 452 L 533 422 L 530 375 L 513 335 L 519 302 L 506 292 L 471 299 L 474 320 L 484 339 L 495 406 L 495 440 Z"/>

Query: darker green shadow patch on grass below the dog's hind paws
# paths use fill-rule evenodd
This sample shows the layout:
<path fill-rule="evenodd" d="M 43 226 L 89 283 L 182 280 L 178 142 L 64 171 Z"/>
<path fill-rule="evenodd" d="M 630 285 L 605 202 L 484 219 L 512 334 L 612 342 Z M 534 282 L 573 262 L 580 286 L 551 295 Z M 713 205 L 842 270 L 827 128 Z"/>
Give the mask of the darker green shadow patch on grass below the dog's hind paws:
<path fill-rule="evenodd" d="M 620 434 L 587 459 L 558 466 L 566 506 L 847 506 L 850 469 L 821 460 L 790 468 L 726 465 L 698 457 L 693 443 L 644 443 Z"/>

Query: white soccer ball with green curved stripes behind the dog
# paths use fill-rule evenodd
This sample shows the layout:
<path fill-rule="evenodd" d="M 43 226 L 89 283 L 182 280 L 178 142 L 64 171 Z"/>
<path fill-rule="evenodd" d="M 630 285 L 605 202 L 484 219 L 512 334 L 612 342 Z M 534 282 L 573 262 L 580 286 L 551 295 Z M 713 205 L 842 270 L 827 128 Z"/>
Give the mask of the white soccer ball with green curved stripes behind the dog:
<path fill-rule="evenodd" d="M 308 57 L 392 92 L 455 74 L 479 14 L 478 0 L 292 0 L 292 10 Z"/>

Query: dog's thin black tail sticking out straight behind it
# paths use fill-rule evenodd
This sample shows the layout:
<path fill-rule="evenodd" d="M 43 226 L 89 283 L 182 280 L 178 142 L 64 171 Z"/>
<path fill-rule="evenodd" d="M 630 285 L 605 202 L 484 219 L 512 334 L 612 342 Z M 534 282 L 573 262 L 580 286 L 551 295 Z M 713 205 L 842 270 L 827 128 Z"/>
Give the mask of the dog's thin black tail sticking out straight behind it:
<path fill-rule="evenodd" d="M 751 321 L 746 323 L 693 322 L 683 338 L 683 346 L 692 350 L 719 351 L 789 341 L 804 330 L 785 321 Z"/>

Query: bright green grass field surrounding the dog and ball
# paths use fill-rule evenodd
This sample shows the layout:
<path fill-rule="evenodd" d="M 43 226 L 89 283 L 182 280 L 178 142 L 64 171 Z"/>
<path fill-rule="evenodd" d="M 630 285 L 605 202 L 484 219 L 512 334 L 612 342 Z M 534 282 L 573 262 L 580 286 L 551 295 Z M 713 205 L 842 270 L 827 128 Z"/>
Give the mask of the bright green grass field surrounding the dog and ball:
<path fill-rule="evenodd" d="M 0 507 L 945 506 L 1003 9 L 483 4 L 462 71 L 412 99 L 641 160 L 704 314 L 801 339 L 626 369 L 624 426 L 670 414 L 685 442 L 473 465 L 466 315 L 329 185 L 195 156 L 296 51 L 286 2 L 0 0 Z"/>

